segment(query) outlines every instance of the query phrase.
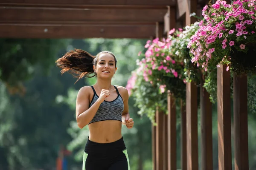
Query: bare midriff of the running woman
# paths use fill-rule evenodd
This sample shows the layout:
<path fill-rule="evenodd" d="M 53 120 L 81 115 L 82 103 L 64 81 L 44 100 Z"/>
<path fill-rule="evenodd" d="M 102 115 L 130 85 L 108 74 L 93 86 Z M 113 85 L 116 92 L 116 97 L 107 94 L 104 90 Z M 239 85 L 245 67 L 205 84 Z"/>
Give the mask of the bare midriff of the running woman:
<path fill-rule="evenodd" d="M 89 140 L 97 143 L 111 143 L 122 138 L 122 122 L 104 120 L 89 124 Z"/>

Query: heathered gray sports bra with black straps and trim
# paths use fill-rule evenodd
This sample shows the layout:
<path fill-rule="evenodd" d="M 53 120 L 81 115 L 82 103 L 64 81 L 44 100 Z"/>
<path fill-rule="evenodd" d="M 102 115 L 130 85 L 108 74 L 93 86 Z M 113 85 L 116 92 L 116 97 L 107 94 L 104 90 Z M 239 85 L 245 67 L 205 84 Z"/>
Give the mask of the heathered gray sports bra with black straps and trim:
<path fill-rule="evenodd" d="M 114 87 L 116 88 L 116 86 Z M 91 105 L 93 105 L 94 102 L 96 102 L 97 99 L 99 99 L 99 96 L 96 94 L 96 91 L 93 88 L 93 86 L 91 86 L 91 88 L 93 89 L 94 94 L 93 94 L 93 99 L 89 105 L 89 108 Z M 119 120 L 122 122 L 122 112 L 124 110 L 124 102 L 117 88 L 116 88 L 116 93 L 117 93 L 116 99 L 114 99 L 111 102 L 104 100 L 104 102 L 100 104 L 98 111 L 96 112 L 95 116 L 90 121 L 90 123 L 99 122 L 103 120 Z"/>

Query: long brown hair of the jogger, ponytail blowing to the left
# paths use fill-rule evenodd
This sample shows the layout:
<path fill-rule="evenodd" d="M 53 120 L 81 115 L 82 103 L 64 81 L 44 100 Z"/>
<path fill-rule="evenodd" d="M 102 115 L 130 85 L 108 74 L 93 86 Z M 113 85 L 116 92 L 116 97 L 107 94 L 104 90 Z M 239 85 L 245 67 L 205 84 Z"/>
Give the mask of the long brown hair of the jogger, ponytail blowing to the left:
<path fill-rule="evenodd" d="M 95 77 L 97 74 L 93 71 L 93 65 L 96 66 L 97 58 L 102 53 L 111 54 L 117 63 L 116 57 L 109 51 L 102 51 L 96 56 L 91 55 L 87 51 L 74 49 L 68 51 L 63 57 L 57 59 L 56 65 L 61 68 L 61 74 L 69 72 L 78 78 L 76 82 L 83 77 Z"/>

